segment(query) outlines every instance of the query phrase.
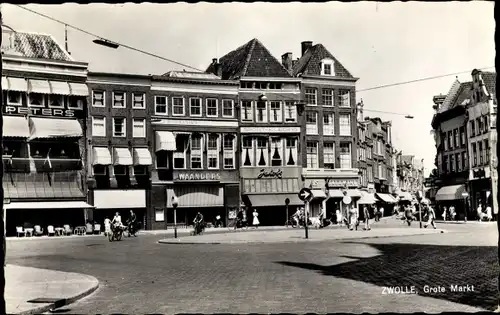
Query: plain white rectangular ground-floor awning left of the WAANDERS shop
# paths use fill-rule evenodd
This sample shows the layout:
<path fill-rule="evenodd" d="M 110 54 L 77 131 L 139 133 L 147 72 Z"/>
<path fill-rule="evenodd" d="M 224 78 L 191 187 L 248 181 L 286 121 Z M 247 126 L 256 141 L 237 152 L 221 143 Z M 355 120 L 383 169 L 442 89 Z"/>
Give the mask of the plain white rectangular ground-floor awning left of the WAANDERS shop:
<path fill-rule="evenodd" d="M 146 208 L 146 191 L 143 189 L 94 190 L 94 206 L 98 209 Z"/>

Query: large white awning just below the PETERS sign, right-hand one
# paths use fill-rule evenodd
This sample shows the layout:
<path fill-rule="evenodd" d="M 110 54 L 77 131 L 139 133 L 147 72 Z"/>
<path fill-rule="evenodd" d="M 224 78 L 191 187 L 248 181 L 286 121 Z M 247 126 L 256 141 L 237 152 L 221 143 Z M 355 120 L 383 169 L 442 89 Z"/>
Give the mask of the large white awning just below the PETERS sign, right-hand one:
<path fill-rule="evenodd" d="M 79 138 L 82 126 L 76 119 L 30 118 L 30 140 L 37 138 Z"/>

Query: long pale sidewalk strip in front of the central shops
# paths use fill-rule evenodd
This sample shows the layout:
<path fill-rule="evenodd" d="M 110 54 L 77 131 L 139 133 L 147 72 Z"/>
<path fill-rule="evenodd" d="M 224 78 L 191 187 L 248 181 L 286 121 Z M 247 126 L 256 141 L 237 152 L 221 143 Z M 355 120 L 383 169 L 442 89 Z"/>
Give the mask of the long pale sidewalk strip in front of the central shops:
<path fill-rule="evenodd" d="M 393 236 L 413 236 L 445 233 L 442 229 L 419 228 L 373 228 L 370 231 L 347 229 L 310 229 L 308 239 L 304 229 L 260 231 L 260 233 L 243 233 L 239 231 L 224 234 L 203 234 L 197 236 L 181 236 L 177 239 L 167 238 L 158 241 L 162 244 L 263 244 L 263 243 L 303 243 L 331 240 L 348 240 L 363 238 L 380 238 Z"/>

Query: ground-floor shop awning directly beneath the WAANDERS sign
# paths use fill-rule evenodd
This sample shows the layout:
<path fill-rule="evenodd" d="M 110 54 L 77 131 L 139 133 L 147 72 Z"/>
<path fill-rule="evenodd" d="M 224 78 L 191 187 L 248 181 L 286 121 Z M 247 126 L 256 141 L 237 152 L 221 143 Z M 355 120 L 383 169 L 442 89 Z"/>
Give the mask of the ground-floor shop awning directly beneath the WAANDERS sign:
<path fill-rule="evenodd" d="M 219 185 L 180 185 L 167 188 L 167 208 L 172 209 L 172 196 L 179 208 L 223 207 L 224 188 Z"/>

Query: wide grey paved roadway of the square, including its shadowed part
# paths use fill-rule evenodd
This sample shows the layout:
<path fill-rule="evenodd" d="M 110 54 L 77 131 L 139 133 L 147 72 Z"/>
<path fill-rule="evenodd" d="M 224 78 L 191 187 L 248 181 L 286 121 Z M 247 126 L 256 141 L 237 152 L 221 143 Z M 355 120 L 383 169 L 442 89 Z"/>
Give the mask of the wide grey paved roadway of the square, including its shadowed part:
<path fill-rule="evenodd" d="M 95 276 L 70 313 L 475 312 L 496 308 L 494 224 L 448 233 L 258 245 L 165 245 L 141 235 L 9 241 L 10 264 Z M 243 232 L 245 233 L 245 232 Z M 450 292 L 450 285 L 473 292 Z M 415 286 L 416 295 L 384 294 Z M 445 293 L 423 287 L 443 286 Z"/>

